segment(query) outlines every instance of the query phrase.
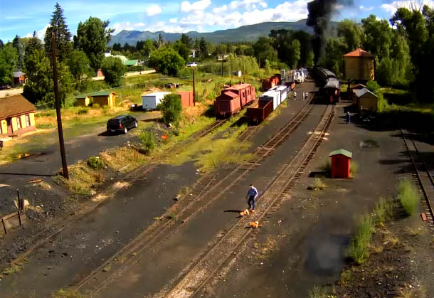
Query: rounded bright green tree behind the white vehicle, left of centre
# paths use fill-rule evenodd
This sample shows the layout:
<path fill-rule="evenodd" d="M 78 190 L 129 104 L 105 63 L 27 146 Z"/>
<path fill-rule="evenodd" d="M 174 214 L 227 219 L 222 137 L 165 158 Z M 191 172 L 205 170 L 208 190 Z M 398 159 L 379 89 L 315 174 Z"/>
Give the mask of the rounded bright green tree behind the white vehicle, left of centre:
<path fill-rule="evenodd" d="M 151 53 L 149 66 L 164 75 L 177 75 L 184 68 L 185 60 L 171 47 L 162 47 Z"/>

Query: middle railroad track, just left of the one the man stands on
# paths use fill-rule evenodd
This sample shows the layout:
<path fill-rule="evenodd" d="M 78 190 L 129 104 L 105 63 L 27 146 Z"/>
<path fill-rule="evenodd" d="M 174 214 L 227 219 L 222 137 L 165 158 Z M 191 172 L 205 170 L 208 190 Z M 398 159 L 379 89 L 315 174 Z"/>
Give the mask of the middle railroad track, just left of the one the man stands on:
<path fill-rule="evenodd" d="M 163 243 L 170 235 L 176 233 L 176 231 L 183 226 L 182 223 L 186 223 L 186 221 L 196 213 L 203 211 L 203 209 L 207 208 L 213 201 L 216 201 L 223 193 L 231 189 L 235 183 L 238 183 L 250 171 L 256 169 L 262 161 L 267 159 L 268 156 L 282 144 L 282 142 L 285 142 L 290 134 L 300 125 L 307 115 L 309 115 L 310 110 L 312 110 L 311 103 L 313 100 L 314 97 L 311 97 L 306 105 L 302 107 L 302 110 L 300 110 L 290 122 L 285 124 L 279 132 L 268 139 L 263 146 L 255 149 L 253 152 L 254 161 L 248 161 L 238 166 L 226 163 L 221 166 L 218 171 L 215 171 L 215 174 L 203 177 L 201 183 L 197 184 L 199 187 L 196 187 L 199 189 L 199 193 L 193 198 L 186 196 L 184 197 L 186 200 L 183 199 L 180 201 L 180 203 L 184 203 L 185 206 L 178 208 L 174 219 L 166 220 L 162 224 L 157 223 L 147 228 L 147 230 L 144 230 L 142 234 L 125 245 L 122 250 L 113 255 L 107 262 L 75 284 L 73 289 L 88 289 L 89 292 L 86 292 L 86 294 L 92 296 L 109 284 L 115 277 L 126 272 L 139 258 L 144 257 L 148 252 L 157 248 L 158 245 Z M 245 129 L 239 136 L 240 145 L 236 150 L 238 151 L 243 142 L 250 139 L 257 130 L 258 126 Z M 217 183 L 213 183 L 216 181 L 216 176 L 218 175 L 223 178 Z M 206 200 L 203 200 L 203 198 L 206 198 Z M 178 225 L 176 225 L 176 223 L 178 223 Z M 125 260 L 125 262 L 120 263 L 117 262 L 117 260 Z M 107 272 L 103 270 L 107 266 L 111 268 L 109 276 L 107 276 Z"/>

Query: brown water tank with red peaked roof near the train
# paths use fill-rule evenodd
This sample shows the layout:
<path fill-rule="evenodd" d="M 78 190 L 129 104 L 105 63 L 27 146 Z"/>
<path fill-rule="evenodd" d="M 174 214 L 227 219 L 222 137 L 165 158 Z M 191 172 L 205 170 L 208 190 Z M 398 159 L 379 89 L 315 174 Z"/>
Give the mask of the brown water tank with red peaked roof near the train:
<path fill-rule="evenodd" d="M 375 80 L 375 55 L 358 48 L 344 56 L 345 80 Z"/>

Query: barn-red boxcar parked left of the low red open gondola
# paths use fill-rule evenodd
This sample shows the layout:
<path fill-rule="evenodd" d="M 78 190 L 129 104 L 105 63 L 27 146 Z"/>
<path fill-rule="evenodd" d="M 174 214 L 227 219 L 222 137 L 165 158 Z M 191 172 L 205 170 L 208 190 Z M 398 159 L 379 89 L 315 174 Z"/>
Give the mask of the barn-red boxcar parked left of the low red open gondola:
<path fill-rule="evenodd" d="M 221 95 L 216 97 L 214 110 L 217 117 L 229 117 L 254 100 L 255 87 L 250 84 L 233 85 L 222 90 Z"/>

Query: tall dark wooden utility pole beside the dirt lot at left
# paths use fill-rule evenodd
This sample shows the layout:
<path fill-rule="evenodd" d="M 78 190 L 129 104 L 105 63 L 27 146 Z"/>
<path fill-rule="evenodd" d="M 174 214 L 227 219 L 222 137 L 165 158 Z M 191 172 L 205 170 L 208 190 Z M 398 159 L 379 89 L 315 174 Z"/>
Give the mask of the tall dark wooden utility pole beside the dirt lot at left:
<path fill-rule="evenodd" d="M 53 60 L 55 113 L 57 115 L 57 128 L 58 128 L 58 133 L 59 133 L 60 156 L 62 157 L 63 177 L 65 177 L 66 179 L 69 179 L 68 165 L 66 164 L 66 156 L 65 156 L 65 142 L 63 140 L 62 117 L 60 116 L 60 100 L 59 100 L 57 64 L 55 62 L 54 31 L 55 31 L 55 27 L 53 27 L 53 31 L 51 31 L 51 58 Z"/>

